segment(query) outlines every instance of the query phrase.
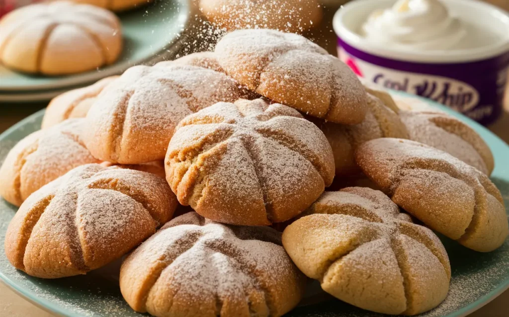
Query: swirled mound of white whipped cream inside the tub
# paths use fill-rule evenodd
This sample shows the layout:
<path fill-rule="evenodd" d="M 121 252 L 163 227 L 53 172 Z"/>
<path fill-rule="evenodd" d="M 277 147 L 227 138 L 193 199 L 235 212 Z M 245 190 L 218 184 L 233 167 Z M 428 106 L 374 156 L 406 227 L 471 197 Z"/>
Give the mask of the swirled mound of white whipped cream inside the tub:
<path fill-rule="evenodd" d="M 399 0 L 373 12 L 362 25 L 364 37 L 400 49 L 450 50 L 476 46 L 467 27 L 438 0 Z"/>

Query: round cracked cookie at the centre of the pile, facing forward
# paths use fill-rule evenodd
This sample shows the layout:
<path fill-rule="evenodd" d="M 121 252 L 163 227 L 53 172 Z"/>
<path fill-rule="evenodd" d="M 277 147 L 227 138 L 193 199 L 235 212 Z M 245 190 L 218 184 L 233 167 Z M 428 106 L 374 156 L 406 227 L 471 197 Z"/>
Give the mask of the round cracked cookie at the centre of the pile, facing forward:
<path fill-rule="evenodd" d="M 309 207 L 331 184 L 334 159 L 320 129 L 297 110 L 238 100 L 182 120 L 165 169 L 180 203 L 200 215 L 268 225 Z"/>

